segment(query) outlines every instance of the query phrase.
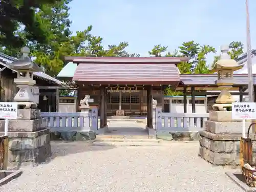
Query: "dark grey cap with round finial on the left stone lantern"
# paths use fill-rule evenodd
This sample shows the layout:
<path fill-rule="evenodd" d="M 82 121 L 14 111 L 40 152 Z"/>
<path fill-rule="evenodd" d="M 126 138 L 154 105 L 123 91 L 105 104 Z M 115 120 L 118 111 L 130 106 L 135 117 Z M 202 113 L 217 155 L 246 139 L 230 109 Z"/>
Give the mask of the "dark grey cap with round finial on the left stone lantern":
<path fill-rule="evenodd" d="M 34 62 L 32 62 L 31 58 L 28 56 L 30 53 L 30 49 L 27 47 L 22 48 L 20 53 L 23 54 L 21 58 L 18 60 L 10 63 L 8 66 L 13 70 L 28 70 L 28 71 L 41 71 L 40 67 L 36 65 Z"/>

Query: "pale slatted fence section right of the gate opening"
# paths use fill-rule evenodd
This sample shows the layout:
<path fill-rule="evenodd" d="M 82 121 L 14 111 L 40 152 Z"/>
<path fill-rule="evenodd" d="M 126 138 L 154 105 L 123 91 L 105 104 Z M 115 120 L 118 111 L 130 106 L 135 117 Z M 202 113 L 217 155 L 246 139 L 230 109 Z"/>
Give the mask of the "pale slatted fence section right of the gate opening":
<path fill-rule="evenodd" d="M 200 130 L 204 121 L 209 118 L 208 113 L 162 113 L 156 109 L 156 130 Z"/>

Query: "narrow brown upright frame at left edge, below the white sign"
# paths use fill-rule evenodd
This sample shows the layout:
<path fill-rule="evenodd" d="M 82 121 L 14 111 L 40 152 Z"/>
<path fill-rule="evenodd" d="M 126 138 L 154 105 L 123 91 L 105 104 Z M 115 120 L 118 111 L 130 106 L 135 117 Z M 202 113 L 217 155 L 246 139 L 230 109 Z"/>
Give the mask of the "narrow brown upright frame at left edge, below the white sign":
<path fill-rule="evenodd" d="M 0 136 L 0 170 L 7 170 L 8 166 L 8 137 Z"/>

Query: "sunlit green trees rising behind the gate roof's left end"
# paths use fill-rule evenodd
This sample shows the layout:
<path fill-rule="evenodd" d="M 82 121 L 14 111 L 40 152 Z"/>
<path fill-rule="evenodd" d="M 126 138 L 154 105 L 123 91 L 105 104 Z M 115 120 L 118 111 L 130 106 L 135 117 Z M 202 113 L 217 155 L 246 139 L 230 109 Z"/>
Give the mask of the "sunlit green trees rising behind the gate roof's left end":
<path fill-rule="evenodd" d="M 92 57 L 138 57 L 139 54 L 129 54 L 125 48 L 129 46 L 127 42 L 120 42 L 119 45 L 110 45 L 104 49 L 102 38 L 93 36 L 92 26 L 83 31 L 77 31 L 71 35 L 69 19 L 69 3 L 72 0 L 60 0 L 54 4 L 44 4 L 34 11 L 36 20 L 43 24 L 47 30 L 48 41 L 36 41 L 27 38 L 27 31 L 17 30 L 27 46 L 31 49 L 31 56 L 37 65 L 41 66 L 46 73 L 56 76 L 66 65 L 65 56 L 92 56 Z M 10 56 L 19 56 L 18 48 L 2 47 L 1 52 Z"/>

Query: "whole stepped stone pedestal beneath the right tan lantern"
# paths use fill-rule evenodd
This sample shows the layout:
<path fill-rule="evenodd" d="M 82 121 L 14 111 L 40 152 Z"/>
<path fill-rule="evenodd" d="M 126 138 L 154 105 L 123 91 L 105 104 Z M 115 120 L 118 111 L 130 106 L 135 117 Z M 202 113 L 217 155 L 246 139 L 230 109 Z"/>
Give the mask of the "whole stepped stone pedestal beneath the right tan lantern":
<path fill-rule="evenodd" d="M 242 122 L 232 120 L 230 111 L 210 111 L 204 131 L 200 131 L 199 156 L 215 165 L 240 164 L 240 138 Z M 250 122 L 246 122 L 246 130 Z M 253 145 L 253 160 L 256 158 L 256 138 L 250 131 Z"/>

